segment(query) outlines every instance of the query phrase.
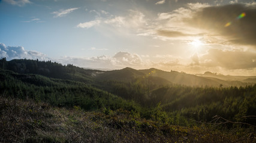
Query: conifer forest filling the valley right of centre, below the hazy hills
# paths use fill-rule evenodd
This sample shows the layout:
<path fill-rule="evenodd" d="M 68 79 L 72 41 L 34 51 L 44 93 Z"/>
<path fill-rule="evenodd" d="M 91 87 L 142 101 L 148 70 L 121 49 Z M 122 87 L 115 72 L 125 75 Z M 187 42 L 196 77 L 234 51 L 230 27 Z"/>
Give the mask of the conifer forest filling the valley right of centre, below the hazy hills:
<path fill-rule="evenodd" d="M 255 124 L 256 85 L 216 87 L 191 87 L 182 85 L 157 86 L 141 82 L 107 81 L 106 91 L 143 107 L 158 108 L 168 114 L 168 122 L 189 125 L 192 120 L 210 122 L 219 115 L 234 122 Z M 152 90 L 153 89 L 153 90 Z M 166 117 L 165 117 L 166 118 Z"/>

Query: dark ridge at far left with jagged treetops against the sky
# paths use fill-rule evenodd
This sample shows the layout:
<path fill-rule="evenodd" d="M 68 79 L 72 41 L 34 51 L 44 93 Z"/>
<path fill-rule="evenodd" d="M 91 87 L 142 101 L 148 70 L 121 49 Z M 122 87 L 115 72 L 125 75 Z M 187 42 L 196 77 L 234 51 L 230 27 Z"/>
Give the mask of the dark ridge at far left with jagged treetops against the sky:
<path fill-rule="evenodd" d="M 85 70 L 73 66 L 73 64 L 67 64 L 65 66 L 52 61 L 26 59 L 7 61 L 6 58 L 0 59 L 0 68 L 21 74 L 40 74 L 58 79 L 79 80 L 80 82 L 90 82 L 92 72 L 92 70 Z"/>

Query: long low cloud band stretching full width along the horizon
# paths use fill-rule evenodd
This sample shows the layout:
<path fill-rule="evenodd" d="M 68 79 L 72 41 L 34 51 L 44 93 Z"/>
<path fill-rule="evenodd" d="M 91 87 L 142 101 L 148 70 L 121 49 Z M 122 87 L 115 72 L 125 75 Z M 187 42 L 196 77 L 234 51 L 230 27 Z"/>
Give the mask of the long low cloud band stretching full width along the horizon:
<path fill-rule="evenodd" d="M 101 50 L 97 48 L 91 49 Z M 47 58 L 41 52 L 26 51 L 22 46 L 5 46 L 4 43 L 0 43 L 0 57 L 6 57 L 7 60 L 38 58 L 38 60 L 52 60 L 62 64 L 74 64 L 95 69 L 122 69 L 124 67 L 147 69 L 155 67 L 167 71 L 190 71 L 190 73 L 218 71 L 228 74 L 234 72 L 241 74 L 242 72 L 248 75 L 254 73 L 256 69 L 256 52 L 221 49 L 209 49 L 207 54 L 194 54 L 188 59 L 169 54 L 150 57 L 149 55 L 138 55 L 130 52 L 117 52 L 113 57 L 101 55 L 98 57 L 59 57 L 52 59 Z M 192 63 L 186 63 L 186 60 Z"/>

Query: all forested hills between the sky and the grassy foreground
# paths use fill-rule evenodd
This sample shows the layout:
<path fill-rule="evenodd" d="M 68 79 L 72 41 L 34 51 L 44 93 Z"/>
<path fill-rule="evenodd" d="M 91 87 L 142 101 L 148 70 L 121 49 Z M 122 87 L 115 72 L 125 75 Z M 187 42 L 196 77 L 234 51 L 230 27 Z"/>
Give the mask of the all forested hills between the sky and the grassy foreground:
<path fill-rule="evenodd" d="M 131 120 L 152 122 L 150 126 L 249 130 L 245 141 L 255 142 L 255 77 L 232 81 L 205 76 L 157 69 L 86 70 L 52 61 L 1 58 L 0 95 L 2 100 L 17 99 L 20 104 L 46 103 L 52 108 L 99 111 L 104 116 L 128 114 Z"/>

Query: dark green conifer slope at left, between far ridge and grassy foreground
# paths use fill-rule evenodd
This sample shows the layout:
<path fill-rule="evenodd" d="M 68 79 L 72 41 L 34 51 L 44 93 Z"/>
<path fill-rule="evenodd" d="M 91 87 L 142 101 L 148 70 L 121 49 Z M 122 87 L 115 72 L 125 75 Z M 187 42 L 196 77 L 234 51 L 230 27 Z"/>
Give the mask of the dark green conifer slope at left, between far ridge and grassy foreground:
<path fill-rule="evenodd" d="M 35 74 L 17 74 L 0 70 L 0 94 L 14 98 L 32 98 L 58 107 L 77 105 L 84 110 L 124 108 L 134 110 L 134 102 L 122 100 L 109 92 L 72 80 L 51 79 Z"/>

